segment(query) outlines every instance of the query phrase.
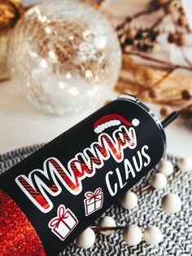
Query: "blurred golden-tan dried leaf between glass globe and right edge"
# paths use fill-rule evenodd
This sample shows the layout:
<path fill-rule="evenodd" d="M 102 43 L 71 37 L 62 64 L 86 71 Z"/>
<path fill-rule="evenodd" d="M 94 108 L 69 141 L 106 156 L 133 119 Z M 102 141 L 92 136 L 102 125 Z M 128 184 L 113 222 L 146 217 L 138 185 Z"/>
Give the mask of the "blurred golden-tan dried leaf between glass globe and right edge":
<path fill-rule="evenodd" d="M 190 104 L 192 102 L 191 76 L 175 74 L 174 71 L 178 67 L 166 66 L 166 68 L 163 67 L 164 69 L 162 67 L 159 70 L 157 67 L 150 68 L 148 64 L 137 64 L 131 56 L 124 54 L 122 73 L 115 90 L 118 93 L 137 95 L 139 99 L 156 104 L 175 107 Z M 186 97 L 183 96 L 184 91 L 189 91 L 187 102 Z"/>

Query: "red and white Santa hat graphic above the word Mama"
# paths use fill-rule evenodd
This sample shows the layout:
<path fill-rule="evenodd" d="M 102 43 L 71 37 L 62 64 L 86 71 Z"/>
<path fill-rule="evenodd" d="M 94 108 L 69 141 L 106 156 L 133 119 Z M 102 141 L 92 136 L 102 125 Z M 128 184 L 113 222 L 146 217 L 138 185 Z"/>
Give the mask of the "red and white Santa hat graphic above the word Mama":
<path fill-rule="evenodd" d="M 126 126 L 138 126 L 139 125 L 138 119 L 134 118 L 133 121 L 129 122 L 124 117 L 117 115 L 117 114 L 111 114 L 104 117 L 101 117 L 98 119 L 98 121 L 95 121 L 94 123 L 94 132 L 96 134 L 99 134 L 103 132 L 103 130 L 111 127 L 111 126 L 119 126 L 120 124 L 124 124 Z"/>

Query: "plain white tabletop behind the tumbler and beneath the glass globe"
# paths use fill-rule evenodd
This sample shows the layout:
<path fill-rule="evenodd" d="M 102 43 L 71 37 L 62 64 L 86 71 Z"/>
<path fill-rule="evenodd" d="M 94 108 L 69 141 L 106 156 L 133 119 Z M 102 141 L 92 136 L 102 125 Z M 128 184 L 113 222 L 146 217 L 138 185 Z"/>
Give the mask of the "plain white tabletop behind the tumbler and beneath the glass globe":
<path fill-rule="evenodd" d="M 159 113 L 159 107 L 149 106 Z M 89 110 L 70 117 L 46 115 L 28 104 L 11 81 L 0 82 L 0 154 L 35 143 L 49 142 L 92 112 Z M 192 157 L 191 123 L 187 126 L 181 119 L 177 120 L 166 128 L 166 134 L 167 152 L 180 157 Z"/>

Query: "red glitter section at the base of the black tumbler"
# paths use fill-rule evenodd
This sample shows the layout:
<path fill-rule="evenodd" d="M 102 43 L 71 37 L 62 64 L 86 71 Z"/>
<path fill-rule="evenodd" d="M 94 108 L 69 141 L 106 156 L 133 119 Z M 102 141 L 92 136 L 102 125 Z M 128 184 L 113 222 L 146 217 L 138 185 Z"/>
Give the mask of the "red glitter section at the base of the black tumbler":
<path fill-rule="evenodd" d="M 0 255 L 46 255 L 28 218 L 2 190 L 0 190 Z"/>

